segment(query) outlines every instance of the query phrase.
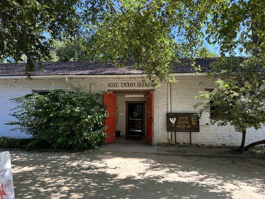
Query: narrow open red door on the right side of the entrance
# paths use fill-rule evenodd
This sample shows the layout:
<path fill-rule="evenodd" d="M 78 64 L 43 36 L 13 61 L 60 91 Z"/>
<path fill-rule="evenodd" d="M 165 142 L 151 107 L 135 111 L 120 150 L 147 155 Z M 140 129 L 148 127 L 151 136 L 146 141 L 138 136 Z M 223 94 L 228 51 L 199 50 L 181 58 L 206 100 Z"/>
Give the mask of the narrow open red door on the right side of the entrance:
<path fill-rule="evenodd" d="M 146 142 L 150 146 L 154 145 L 154 92 L 146 94 Z"/>

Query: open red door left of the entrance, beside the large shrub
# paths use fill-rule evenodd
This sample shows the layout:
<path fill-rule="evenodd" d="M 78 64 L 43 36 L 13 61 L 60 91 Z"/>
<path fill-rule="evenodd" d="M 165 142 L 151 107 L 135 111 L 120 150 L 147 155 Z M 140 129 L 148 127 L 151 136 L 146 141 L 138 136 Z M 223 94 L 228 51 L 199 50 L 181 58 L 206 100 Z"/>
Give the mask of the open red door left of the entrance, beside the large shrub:
<path fill-rule="evenodd" d="M 103 94 L 103 104 L 107 107 L 108 118 L 105 120 L 107 129 L 105 133 L 107 136 L 104 139 L 104 143 L 108 144 L 115 142 L 115 131 L 116 131 L 116 118 L 115 118 L 115 107 L 116 107 L 116 94 L 112 92 L 105 92 Z"/>

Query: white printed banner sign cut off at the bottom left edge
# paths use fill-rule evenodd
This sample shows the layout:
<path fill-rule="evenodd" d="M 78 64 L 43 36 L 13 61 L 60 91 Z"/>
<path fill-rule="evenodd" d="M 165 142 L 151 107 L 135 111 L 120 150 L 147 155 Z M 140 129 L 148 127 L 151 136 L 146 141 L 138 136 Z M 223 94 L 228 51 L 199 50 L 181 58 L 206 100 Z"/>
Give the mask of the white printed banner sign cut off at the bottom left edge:
<path fill-rule="evenodd" d="M 0 199 L 15 199 L 8 151 L 0 153 Z"/>

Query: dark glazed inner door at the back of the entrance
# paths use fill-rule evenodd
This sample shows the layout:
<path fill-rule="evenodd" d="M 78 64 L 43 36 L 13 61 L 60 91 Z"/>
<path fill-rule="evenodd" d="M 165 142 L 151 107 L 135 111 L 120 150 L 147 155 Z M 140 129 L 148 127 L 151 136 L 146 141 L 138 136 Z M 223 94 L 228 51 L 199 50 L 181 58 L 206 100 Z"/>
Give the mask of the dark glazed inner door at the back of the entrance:
<path fill-rule="evenodd" d="M 144 104 L 128 103 L 128 140 L 141 140 L 144 135 Z M 138 137 L 138 138 L 137 138 Z"/>

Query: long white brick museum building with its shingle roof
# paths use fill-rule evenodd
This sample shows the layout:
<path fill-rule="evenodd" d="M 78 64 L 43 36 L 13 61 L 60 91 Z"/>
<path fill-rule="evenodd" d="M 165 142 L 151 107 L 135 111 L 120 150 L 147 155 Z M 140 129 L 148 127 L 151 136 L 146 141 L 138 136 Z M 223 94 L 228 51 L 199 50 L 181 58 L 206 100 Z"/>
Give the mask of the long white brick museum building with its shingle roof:
<path fill-rule="evenodd" d="M 203 72 L 209 70 L 208 66 L 212 61 L 214 60 L 197 60 Z M 0 64 L 0 136 L 27 137 L 21 132 L 10 131 L 12 126 L 5 125 L 7 121 L 13 120 L 9 113 L 16 105 L 10 99 L 32 93 L 33 90 L 47 90 L 51 87 L 72 90 L 80 88 L 84 92 L 115 93 L 115 130 L 119 130 L 121 135 L 141 132 L 144 136 L 148 131 L 146 95 L 151 91 L 154 94 L 154 143 L 170 143 L 167 112 L 195 112 L 193 105 L 197 102 L 195 96 L 198 92 L 214 88 L 214 81 L 207 81 L 203 73 L 198 77 L 193 76 L 190 66 L 186 64 L 174 67 L 178 80 L 176 84 L 164 82 L 160 88 L 146 87 L 142 85 L 142 81 L 148 80 L 141 74 L 142 71 L 132 71 L 130 66 L 131 63 L 128 63 L 127 67 L 118 69 L 111 64 L 101 68 L 98 63 L 91 62 L 47 63 L 44 65 L 44 73 L 37 70 L 33 79 L 28 80 L 23 76 L 23 64 Z M 204 84 L 199 84 L 200 82 Z M 136 119 L 132 118 L 130 121 L 130 107 L 142 108 L 142 120 L 135 117 Z M 199 128 L 199 132 L 192 133 L 193 144 L 238 146 L 241 143 L 241 133 L 236 132 L 233 126 L 210 125 L 209 113 L 203 114 L 199 120 Z M 247 129 L 246 144 L 262 139 L 265 139 L 265 128 Z M 189 143 L 189 133 L 177 132 L 176 140 L 179 143 Z"/>

